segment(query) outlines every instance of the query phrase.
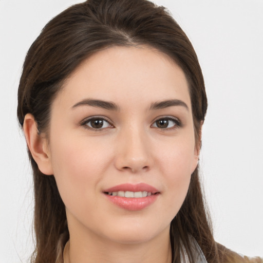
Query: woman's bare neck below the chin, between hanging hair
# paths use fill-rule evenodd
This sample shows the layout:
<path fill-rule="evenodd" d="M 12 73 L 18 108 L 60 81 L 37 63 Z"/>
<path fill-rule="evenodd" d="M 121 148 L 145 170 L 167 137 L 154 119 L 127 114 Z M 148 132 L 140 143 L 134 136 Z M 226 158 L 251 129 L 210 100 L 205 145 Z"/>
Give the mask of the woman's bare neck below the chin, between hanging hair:
<path fill-rule="evenodd" d="M 169 229 L 159 236 L 138 243 L 121 243 L 95 237 L 70 235 L 64 250 L 64 263 L 171 263 L 172 250 Z"/>

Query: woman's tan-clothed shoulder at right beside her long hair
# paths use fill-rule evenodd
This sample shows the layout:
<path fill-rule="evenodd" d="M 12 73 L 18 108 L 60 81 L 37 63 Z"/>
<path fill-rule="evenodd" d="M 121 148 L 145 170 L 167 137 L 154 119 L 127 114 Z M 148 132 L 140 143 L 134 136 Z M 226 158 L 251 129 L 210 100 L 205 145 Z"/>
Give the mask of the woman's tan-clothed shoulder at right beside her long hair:
<path fill-rule="evenodd" d="M 218 254 L 222 263 L 263 263 L 263 258 L 260 257 L 247 257 L 238 254 L 221 244 L 217 243 Z"/>

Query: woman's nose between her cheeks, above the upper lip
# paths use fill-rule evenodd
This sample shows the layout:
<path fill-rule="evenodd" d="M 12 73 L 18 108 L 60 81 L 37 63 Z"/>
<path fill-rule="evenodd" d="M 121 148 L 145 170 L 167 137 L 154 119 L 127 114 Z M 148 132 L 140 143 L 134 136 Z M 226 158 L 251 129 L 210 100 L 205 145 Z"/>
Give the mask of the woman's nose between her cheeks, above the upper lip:
<path fill-rule="evenodd" d="M 118 138 L 116 168 L 140 173 L 151 170 L 153 164 L 151 143 L 146 133 L 136 128 L 123 131 Z"/>

